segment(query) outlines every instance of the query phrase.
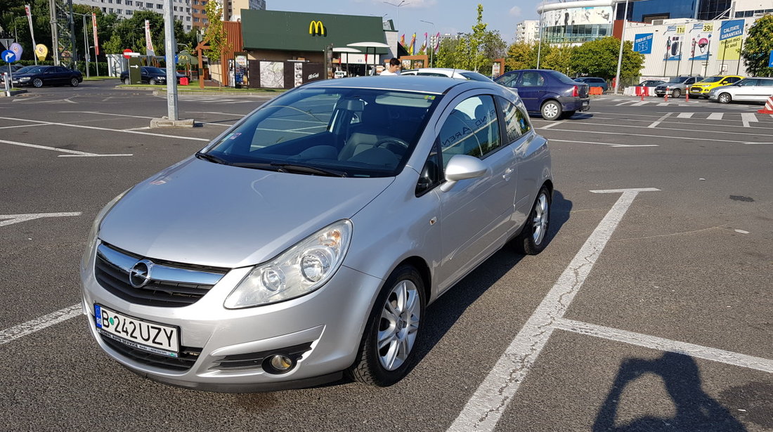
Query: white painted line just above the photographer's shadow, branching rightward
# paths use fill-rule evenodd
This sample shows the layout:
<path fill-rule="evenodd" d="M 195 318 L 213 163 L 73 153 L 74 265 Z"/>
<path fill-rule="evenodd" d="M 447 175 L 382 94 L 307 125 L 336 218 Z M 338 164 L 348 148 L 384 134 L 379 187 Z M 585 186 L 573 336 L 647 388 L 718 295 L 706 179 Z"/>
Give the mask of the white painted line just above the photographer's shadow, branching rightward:
<path fill-rule="evenodd" d="M 659 351 L 679 352 L 680 354 L 690 355 L 691 357 L 696 357 L 698 359 L 706 359 L 713 362 L 727 363 L 728 365 L 773 373 L 773 360 L 740 354 L 738 352 L 724 351 L 723 349 L 710 348 L 708 346 L 642 335 L 641 333 L 627 332 L 618 328 L 609 328 L 604 327 L 603 325 L 588 324 L 587 322 L 573 321 L 564 318 L 554 322 L 553 327 L 559 328 L 560 330 L 566 330 L 567 332 L 580 333 L 581 335 L 596 336 L 597 338 L 625 342 L 649 349 L 657 349 Z"/>

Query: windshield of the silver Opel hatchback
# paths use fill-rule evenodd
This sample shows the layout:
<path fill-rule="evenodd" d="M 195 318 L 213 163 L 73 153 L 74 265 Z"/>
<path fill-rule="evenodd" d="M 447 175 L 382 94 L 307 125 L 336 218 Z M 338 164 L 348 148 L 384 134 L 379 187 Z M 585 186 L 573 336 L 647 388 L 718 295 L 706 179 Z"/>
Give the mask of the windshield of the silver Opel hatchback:
<path fill-rule="evenodd" d="M 390 177 L 413 151 L 440 95 L 298 89 L 247 117 L 206 151 L 209 160 L 314 175 Z"/>

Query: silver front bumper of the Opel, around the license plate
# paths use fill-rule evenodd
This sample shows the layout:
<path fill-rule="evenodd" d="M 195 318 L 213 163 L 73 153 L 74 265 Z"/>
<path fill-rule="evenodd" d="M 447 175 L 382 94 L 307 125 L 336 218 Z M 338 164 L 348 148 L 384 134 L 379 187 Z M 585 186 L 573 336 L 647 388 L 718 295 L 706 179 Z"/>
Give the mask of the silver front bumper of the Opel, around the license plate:
<path fill-rule="evenodd" d="M 356 358 L 366 319 L 383 283 L 377 277 L 342 266 L 327 284 L 300 298 L 254 308 L 226 309 L 223 301 L 251 270 L 240 268 L 230 270 L 193 304 L 154 307 L 124 301 L 101 287 L 94 275 L 94 255 L 81 268 L 81 283 L 83 313 L 97 345 L 138 375 L 206 391 L 271 391 L 339 379 L 341 371 Z M 181 352 L 200 352 L 191 357 L 192 365 L 187 370 L 172 370 L 162 362 L 145 361 L 141 357 L 148 357 L 146 352 L 128 349 L 97 330 L 94 304 L 132 318 L 176 326 Z M 223 367 L 221 363 L 223 359 L 264 359 L 298 346 L 305 351 L 295 368 L 281 374 L 264 370 L 260 360 L 237 369 Z"/>

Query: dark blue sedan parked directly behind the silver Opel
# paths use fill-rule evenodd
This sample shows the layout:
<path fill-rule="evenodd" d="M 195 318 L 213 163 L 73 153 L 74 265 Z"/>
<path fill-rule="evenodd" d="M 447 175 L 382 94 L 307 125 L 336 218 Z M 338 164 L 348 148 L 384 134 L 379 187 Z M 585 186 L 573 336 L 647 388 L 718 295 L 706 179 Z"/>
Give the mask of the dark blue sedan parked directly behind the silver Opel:
<path fill-rule="evenodd" d="M 526 110 L 542 114 L 545 120 L 568 118 L 591 105 L 588 85 L 556 70 L 511 70 L 495 82 L 518 90 Z"/>

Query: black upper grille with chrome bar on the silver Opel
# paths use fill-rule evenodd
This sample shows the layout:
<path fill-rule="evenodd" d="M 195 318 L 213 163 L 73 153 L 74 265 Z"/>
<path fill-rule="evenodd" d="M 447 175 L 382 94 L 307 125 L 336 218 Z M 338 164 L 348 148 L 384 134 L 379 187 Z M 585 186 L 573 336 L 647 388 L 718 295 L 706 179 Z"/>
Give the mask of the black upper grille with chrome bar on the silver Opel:
<path fill-rule="evenodd" d="M 108 254 L 110 257 L 108 257 Z M 121 263 L 114 263 L 111 260 L 123 261 Z M 165 308 L 179 308 L 187 306 L 189 304 L 196 303 L 199 298 L 202 298 L 204 294 L 209 292 L 214 284 L 197 284 L 196 274 L 204 274 L 204 272 L 197 272 L 196 270 L 189 270 L 186 266 L 181 264 L 178 267 L 165 266 L 165 269 L 179 270 L 179 273 L 185 277 L 189 277 L 189 281 L 163 281 L 159 279 L 151 279 L 148 284 L 143 287 L 133 287 L 129 284 L 128 267 L 131 267 L 136 261 L 137 257 L 123 253 L 123 251 L 117 250 L 117 248 L 108 247 L 106 243 L 100 245 L 100 252 L 97 253 L 97 260 L 94 265 L 94 276 L 97 277 L 97 282 L 104 287 L 111 294 L 124 299 L 125 301 L 131 301 L 134 304 L 144 304 L 147 306 L 160 306 Z M 225 272 L 213 274 L 213 272 L 207 272 L 211 277 L 219 279 Z M 151 274 L 152 276 L 152 274 Z M 219 277 L 218 277 L 219 276 Z"/>

